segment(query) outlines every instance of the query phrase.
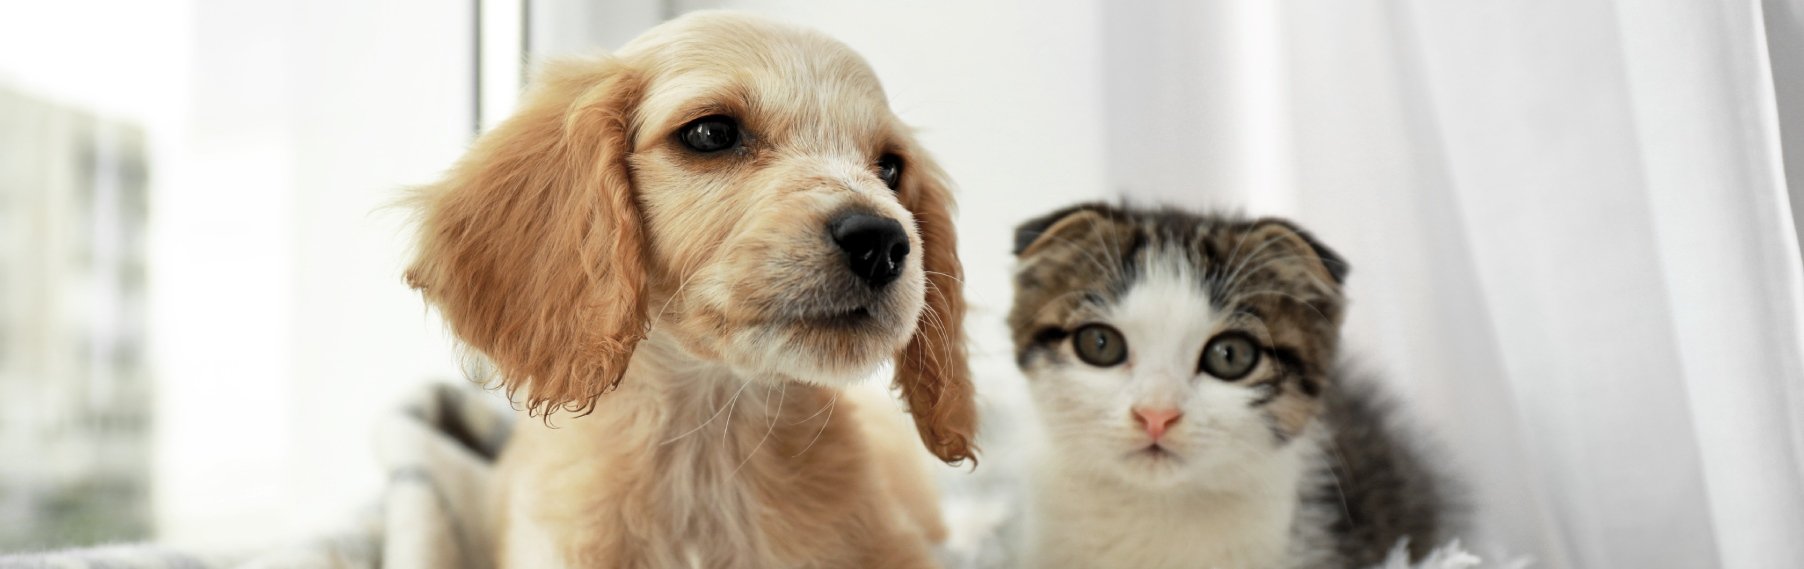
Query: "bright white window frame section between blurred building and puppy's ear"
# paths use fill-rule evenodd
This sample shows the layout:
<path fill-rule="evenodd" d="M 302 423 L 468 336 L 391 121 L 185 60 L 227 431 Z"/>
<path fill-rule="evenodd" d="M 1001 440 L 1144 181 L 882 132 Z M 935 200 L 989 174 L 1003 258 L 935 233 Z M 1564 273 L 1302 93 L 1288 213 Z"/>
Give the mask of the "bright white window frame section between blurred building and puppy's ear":
<path fill-rule="evenodd" d="M 388 206 L 471 125 L 464 4 L 195 4 L 191 182 L 159 188 L 159 531 L 245 546 L 375 499 L 375 417 L 458 381 Z"/>

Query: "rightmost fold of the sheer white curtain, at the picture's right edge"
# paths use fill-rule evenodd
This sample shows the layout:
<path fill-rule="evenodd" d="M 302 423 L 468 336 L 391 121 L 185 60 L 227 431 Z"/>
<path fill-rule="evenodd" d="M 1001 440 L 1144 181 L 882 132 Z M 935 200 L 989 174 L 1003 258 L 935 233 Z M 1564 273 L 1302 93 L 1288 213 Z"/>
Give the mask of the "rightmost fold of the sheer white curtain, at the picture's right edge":
<path fill-rule="evenodd" d="M 1761 7 L 1625 2 L 1618 22 L 1719 560 L 1804 560 L 1800 280 Z"/>

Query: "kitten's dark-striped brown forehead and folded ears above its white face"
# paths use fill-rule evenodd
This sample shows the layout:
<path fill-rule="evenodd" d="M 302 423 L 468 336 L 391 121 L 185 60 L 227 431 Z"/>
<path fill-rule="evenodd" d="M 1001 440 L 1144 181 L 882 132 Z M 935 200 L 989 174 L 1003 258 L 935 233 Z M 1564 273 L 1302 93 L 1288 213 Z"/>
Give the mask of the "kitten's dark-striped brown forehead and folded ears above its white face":
<path fill-rule="evenodd" d="M 1339 345 L 1346 262 L 1277 219 L 1084 204 L 1023 224 L 1016 235 L 1008 325 L 1023 367 L 1122 302 L 1147 275 L 1187 275 L 1221 327 L 1245 329 L 1284 359 L 1288 390 L 1313 399 Z M 1308 408 L 1313 408 L 1310 405 Z M 1281 423 L 1301 428 L 1306 408 Z"/>

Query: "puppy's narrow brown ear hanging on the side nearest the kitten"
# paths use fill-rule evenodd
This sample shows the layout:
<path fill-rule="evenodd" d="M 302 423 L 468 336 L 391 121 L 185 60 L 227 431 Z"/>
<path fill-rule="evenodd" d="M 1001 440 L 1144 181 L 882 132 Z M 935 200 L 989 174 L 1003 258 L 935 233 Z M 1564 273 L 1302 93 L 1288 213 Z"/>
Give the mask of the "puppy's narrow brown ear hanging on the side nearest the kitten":
<path fill-rule="evenodd" d="M 958 264 L 953 191 L 918 145 L 907 148 L 904 164 L 898 199 L 920 231 L 927 307 L 915 338 L 897 354 L 897 387 L 927 450 L 947 464 L 976 461 L 978 410 L 965 361 L 965 269 Z"/>

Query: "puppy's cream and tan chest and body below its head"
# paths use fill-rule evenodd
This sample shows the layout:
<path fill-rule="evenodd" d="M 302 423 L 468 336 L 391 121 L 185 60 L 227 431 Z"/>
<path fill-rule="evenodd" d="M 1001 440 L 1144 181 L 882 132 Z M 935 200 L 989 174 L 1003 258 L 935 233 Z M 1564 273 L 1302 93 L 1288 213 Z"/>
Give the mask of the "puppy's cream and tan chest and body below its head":
<path fill-rule="evenodd" d="M 898 535 L 837 390 L 658 376 L 588 417 L 521 424 L 503 459 L 511 565 L 853 567 Z"/>

